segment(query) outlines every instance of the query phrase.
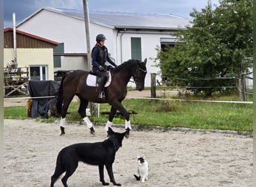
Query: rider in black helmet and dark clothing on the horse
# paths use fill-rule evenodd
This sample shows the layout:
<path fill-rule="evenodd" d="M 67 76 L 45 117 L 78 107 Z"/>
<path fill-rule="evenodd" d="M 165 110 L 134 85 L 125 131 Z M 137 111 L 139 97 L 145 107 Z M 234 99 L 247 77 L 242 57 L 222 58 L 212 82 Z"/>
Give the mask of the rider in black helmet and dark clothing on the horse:
<path fill-rule="evenodd" d="M 104 98 L 105 93 L 103 91 L 104 85 L 106 80 L 108 79 L 108 75 L 106 73 L 107 66 L 105 62 L 108 61 L 109 64 L 112 66 L 117 67 L 115 62 L 113 62 L 109 58 L 108 49 L 104 46 L 106 37 L 104 34 L 98 34 L 96 37 L 97 43 L 95 44 L 94 48 L 91 50 L 91 57 L 92 57 L 92 70 L 93 72 L 99 76 L 99 98 Z"/>

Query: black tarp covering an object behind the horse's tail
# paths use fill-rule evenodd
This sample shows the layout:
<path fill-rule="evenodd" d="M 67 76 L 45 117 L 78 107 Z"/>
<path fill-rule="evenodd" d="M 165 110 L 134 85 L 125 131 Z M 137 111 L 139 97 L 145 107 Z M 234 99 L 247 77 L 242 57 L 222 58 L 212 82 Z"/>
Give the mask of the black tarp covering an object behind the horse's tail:
<path fill-rule="evenodd" d="M 50 109 L 50 103 L 54 101 L 55 97 L 51 98 L 33 98 L 40 96 L 57 96 L 59 82 L 55 81 L 29 81 L 28 91 L 32 97 L 32 103 L 30 108 L 29 117 L 49 117 L 48 111 Z"/>

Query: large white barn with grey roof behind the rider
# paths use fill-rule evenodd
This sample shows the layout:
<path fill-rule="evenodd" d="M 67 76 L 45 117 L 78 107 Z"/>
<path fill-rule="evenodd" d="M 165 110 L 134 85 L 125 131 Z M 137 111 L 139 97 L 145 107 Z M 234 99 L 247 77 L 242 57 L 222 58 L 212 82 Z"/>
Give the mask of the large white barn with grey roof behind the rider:
<path fill-rule="evenodd" d="M 147 58 L 147 77 L 145 86 L 150 86 L 150 73 L 160 70 L 154 63 L 156 46 L 174 45 L 174 33 L 186 29 L 190 19 L 174 15 L 147 13 L 120 13 L 90 11 L 91 48 L 96 43 L 97 34 L 106 35 L 106 46 L 116 64 L 131 58 Z M 55 51 L 55 70 L 88 70 L 86 61 L 85 22 L 82 9 L 43 7 L 17 25 L 27 31 L 49 40 L 62 43 Z"/>

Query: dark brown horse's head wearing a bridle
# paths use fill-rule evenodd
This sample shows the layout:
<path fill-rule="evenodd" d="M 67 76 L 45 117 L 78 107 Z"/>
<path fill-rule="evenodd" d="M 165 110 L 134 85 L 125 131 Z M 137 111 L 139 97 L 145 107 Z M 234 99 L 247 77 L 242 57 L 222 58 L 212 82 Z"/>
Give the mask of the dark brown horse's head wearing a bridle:
<path fill-rule="evenodd" d="M 136 89 L 138 91 L 144 90 L 144 81 L 145 81 L 145 76 L 147 74 L 146 64 L 147 64 L 147 58 L 145 58 L 144 61 L 138 61 L 138 66 L 135 70 L 135 73 L 133 73 L 132 75 L 134 82 L 136 84 Z"/>

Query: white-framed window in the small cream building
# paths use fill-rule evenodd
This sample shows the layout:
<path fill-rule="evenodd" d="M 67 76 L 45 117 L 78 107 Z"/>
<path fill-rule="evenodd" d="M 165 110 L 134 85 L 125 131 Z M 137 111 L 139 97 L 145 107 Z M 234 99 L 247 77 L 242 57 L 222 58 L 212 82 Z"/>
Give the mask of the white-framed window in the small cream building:
<path fill-rule="evenodd" d="M 30 80 L 33 81 L 46 81 L 47 76 L 47 66 L 30 66 Z"/>

